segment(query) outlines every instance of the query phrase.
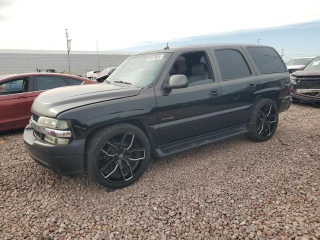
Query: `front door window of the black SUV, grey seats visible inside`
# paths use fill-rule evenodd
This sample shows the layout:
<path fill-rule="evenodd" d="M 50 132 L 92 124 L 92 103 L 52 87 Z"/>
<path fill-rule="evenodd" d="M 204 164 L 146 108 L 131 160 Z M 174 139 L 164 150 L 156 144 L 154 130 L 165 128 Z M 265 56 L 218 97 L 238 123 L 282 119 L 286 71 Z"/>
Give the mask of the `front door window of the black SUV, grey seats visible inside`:
<path fill-rule="evenodd" d="M 183 74 L 188 78 L 188 85 L 214 82 L 209 61 L 204 52 L 187 52 L 180 55 L 172 65 L 169 75 Z"/>

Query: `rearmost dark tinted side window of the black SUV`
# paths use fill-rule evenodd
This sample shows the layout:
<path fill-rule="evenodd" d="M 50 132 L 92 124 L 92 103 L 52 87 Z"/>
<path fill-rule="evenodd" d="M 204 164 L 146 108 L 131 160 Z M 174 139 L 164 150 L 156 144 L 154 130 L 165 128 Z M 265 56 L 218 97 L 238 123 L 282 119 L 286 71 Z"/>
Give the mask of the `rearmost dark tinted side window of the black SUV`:
<path fill-rule="evenodd" d="M 261 73 L 286 71 L 281 57 L 270 47 L 247 47 Z"/>

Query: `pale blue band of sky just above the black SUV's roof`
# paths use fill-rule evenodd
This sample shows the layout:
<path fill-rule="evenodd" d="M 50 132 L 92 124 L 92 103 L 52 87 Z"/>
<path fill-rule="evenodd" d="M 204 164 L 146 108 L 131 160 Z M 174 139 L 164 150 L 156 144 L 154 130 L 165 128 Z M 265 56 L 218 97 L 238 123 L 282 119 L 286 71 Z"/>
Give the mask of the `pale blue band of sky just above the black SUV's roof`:
<path fill-rule="evenodd" d="M 169 40 L 169 47 L 208 43 L 250 43 L 273 46 L 285 61 L 295 57 L 320 55 L 320 21 L 280 27 L 239 30 L 223 34 L 205 34 Z M 161 49 L 166 41 L 141 42 L 124 48 L 128 52 Z"/>

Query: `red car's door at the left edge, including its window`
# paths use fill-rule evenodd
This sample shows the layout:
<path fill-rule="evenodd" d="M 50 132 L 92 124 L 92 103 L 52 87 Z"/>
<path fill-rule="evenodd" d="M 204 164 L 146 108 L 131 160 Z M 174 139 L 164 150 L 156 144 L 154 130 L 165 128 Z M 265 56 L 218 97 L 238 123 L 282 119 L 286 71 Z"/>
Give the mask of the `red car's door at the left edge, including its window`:
<path fill-rule="evenodd" d="M 0 130 L 24 127 L 31 116 L 32 77 L 0 83 Z"/>

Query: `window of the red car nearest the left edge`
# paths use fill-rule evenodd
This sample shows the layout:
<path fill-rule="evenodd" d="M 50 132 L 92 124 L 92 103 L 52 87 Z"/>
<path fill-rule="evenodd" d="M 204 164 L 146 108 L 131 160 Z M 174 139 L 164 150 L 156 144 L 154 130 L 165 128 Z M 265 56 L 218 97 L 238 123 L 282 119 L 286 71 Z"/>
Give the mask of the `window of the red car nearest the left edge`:
<path fill-rule="evenodd" d="M 12 79 L 0 84 L 0 95 L 8 95 L 28 91 L 28 77 Z"/>

